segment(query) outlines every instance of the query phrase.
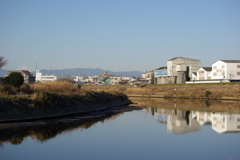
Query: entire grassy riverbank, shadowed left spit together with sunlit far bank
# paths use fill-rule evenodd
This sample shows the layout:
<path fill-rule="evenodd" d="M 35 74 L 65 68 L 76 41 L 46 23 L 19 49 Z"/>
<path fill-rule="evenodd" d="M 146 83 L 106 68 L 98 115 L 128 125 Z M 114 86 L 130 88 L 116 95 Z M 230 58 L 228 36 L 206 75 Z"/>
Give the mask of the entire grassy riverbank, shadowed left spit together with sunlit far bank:
<path fill-rule="evenodd" d="M 46 117 L 130 103 L 128 97 L 240 100 L 240 83 L 76 86 L 67 82 L 0 86 L 0 119 Z"/>

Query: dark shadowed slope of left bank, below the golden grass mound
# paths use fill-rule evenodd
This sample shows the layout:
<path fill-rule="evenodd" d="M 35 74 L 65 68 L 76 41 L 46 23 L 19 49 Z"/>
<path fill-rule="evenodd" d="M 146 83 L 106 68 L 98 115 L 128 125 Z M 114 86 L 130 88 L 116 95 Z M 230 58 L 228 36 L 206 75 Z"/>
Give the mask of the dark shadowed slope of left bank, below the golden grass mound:
<path fill-rule="evenodd" d="M 5 96 L 0 98 L 0 122 L 33 121 L 86 114 L 130 103 L 124 94 L 106 92 L 86 92 L 84 96 L 49 92 Z"/>

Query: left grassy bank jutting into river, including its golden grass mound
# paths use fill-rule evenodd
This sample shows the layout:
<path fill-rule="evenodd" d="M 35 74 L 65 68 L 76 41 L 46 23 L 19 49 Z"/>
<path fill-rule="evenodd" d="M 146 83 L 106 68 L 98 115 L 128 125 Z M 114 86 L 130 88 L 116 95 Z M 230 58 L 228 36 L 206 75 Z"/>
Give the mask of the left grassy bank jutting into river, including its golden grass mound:
<path fill-rule="evenodd" d="M 29 86 L 30 94 L 1 91 L 1 120 L 70 115 L 130 103 L 123 93 L 83 91 L 67 82 L 36 83 Z"/>

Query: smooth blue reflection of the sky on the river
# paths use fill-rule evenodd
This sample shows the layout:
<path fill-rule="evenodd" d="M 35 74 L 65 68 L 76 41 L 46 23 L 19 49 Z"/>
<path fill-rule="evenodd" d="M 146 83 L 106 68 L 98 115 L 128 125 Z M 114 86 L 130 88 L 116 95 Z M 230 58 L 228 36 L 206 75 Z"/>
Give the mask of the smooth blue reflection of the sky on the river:
<path fill-rule="evenodd" d="M 210 125 L 171 134 L 151 114 L 133 111 L 43 143 L 4 144 L 0 159 L 239 159 L 239 144 L 239 133 L 218 134 Z"/>

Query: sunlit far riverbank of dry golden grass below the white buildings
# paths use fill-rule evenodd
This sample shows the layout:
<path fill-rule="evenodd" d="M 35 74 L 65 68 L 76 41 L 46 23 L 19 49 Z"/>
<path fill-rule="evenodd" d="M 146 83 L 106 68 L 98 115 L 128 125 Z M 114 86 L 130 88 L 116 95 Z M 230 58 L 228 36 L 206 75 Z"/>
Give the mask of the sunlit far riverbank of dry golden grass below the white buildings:
<path fill-rule="evenodd" d="M 240 100 L 240 83 L 82 86 L 85 91 L 120 92 L 128 97 Z"/>

